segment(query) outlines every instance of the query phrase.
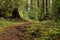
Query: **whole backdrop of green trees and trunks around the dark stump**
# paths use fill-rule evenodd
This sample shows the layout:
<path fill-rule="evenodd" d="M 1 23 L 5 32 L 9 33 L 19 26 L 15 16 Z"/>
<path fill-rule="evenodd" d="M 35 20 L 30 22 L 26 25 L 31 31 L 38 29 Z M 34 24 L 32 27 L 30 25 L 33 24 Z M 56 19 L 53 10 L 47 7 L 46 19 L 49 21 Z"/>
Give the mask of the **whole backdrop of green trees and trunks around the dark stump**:
<path fill-rule="evenodd" d="M 54 17 L 59 18 L 59 2 L 57 0 L 0 0 L 0 15 L 10 17 L 12 11 L 17 8 L 18 15 L 23 19 L 44 20 L 53 19 Z"/>

